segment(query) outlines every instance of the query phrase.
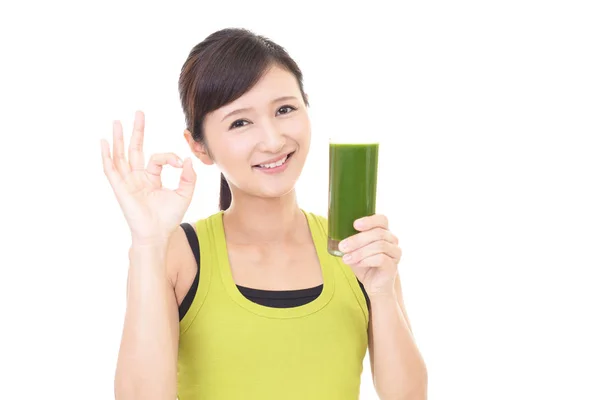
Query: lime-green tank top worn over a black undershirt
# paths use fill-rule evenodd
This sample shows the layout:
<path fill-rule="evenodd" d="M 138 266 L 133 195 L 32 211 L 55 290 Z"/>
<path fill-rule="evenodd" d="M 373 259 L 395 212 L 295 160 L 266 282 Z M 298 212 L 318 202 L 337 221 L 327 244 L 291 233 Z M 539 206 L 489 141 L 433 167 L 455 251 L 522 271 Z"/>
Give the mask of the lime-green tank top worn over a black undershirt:
<path fill-rule="evenodd" d="M 237 288 L 223 212 L 196 222 L 200 284 L 180 322 L 179 400 L 358 399 L 368 310 L 350 267 L 327 252 L 325 218 L 304 212 L 323 290 L 293 308 L 252 302 Z"/>

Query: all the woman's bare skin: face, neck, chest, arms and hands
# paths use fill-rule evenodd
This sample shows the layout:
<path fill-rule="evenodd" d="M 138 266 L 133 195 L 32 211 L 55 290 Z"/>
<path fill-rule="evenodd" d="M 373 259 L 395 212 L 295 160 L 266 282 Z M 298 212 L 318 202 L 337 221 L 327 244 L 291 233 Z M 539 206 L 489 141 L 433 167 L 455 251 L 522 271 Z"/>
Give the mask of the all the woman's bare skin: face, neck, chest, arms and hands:
<path fill-rule="evenodd" d="M 143 170 L 141 113 L 136 114 L 130 167 L 118 127 L 113 136 L 114 159 L 108 143 L 102 143 L 105 173 L 132 228 L 128 305 L 115 395 L 124 399 L 174 398 L 177 305 L 188 292 L 197 266 L 183 230 L 169 218 L 183 217 L 196 186 L 195 173 L 189 160 L 182 162 L 173 153 L 153 155 L 147 171 Z M 229 182 L 232 204 L 224 212 L 223 222 L 235 282 L 270 290 L 321 284 L 316 250 L 294 189 L 311 140 L 308 110 L 295 77 L 272 67 L 243 96 L 208 114 L 204 128 L 204 145 L 195 142 L 187 130 L 184 137 L 193 154 L 206 165 L 216 165 Z M 292 151 L 294 155 L 282 173 L 268 175 L 253 168 Z M 162 203 L 151 207 L 150 200 L 144 198 L 136 205 L 131 196 L 123 195 L 126 191 L 137 195 L 142 184 L 159 185 L 156 177 L 166 164 L 183 169 L 180 188 L 167 193 L 153 187 L 148 199 L 178 204 L 175 216 L 167 215 L 163 210 L 168 207 Z M 122 179 L 128 171 L 139 174 L 139 180 L 129 186 Z M 160 198 L 162 195 L 166 200 Z M 141 205 L 147 206 L 148 212 L 136 215 Z M 152 223 L 146 227 L 143 224 L 148 220 Z M 402 299 L 398 239 L 389 231 L 383 215 L 357 220 L 355 227 L 359 233 L 341 245 L 349 256 L 344 262 L 371 299 L 369 354 L 377 393 L 384 400 L 426 399 L 427 370 Z M 152 235 L 142 237 L 135 232 Z M 165 346 L 167 343 L 170 346 Z"/>

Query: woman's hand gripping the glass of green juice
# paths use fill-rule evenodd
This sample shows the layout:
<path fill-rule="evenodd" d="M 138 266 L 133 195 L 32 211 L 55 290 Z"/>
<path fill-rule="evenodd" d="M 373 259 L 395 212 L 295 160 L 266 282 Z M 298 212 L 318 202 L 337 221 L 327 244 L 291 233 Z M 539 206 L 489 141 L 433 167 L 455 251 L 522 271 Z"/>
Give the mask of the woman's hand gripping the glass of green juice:
<path fill-rule="evenodd" d="M 340 242 L 342 260 L 361 281 L 369 296 L 392 294 L 402 250 L 398 238 L 388 230 L 385 215 L 375 214 L 354 221 L 359 233 Z"/>

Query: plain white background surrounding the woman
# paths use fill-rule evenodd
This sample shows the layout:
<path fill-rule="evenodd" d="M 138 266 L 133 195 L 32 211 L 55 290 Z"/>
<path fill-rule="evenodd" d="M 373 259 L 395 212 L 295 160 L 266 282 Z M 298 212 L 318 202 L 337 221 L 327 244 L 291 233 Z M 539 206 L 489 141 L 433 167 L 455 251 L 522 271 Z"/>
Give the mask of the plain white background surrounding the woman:
<path fill-rule="evenodd" d="M 190 155 L 179 70 L 233 26 L 305 74 L 303 208 L 327 212 L 329 133 L 381 138 L 429 398 L 600 399 L 594 2 L 148 3 L 1 6 L 1 399 L 112 398 L 129 234 L 99 139 L 141 109 L 147 155 Z M 217 205 L 218 171 L 194 167 L 187 221 Z"/>

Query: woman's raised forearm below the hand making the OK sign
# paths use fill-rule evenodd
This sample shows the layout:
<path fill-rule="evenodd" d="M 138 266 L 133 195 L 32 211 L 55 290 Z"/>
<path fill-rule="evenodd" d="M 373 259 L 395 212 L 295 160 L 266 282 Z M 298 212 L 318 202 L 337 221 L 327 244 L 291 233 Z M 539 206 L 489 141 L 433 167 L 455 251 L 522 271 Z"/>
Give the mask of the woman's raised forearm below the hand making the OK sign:
<path fill-rule="evenodd" d="M 179 325 L 166 274 L 166 244 L 132 245 L 127 309 L 115 376 L 116 399 L 172 400 Z"/>

